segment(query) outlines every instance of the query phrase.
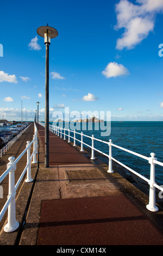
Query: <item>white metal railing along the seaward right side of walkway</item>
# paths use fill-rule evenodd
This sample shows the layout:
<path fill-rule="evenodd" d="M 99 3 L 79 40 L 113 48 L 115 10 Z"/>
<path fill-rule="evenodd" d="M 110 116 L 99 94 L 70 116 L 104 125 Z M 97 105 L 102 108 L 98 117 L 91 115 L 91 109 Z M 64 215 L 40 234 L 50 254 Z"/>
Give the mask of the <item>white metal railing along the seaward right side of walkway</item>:
<path fill-rule="evenodd" d="M 146 205 L 147 209 L 149 211 L 158 211 L 158 207 L 155 205 L 155 188 L 158 188 L 158 190 L 163 192 L 163 187 L 159 186 L 158 184 L 156 184 L 155 182 L 155 164 L 158 164 L 159 166 L 163 166 L 162 162 L 157 161 L 157 159 L 155 158 L 155 154 L 151 153 L 151 157 L 147 157 L 147 156 L 143 156 L 141 154 L 135 153 L 134 151 L 119 147 L 118 145 L 115 145 L 112 143 L 111 139 L 109 140 L 109 142 L 106 141 L 102 141 L 101 139 L 97 139 L 95 138 L 93 135 L 92 137 L 84 135 L 83 132 L 79 133 L 76 132 L 75 130 L 72 131 L 70 129 L 65 129 L 59 126 L 54 126 L 54 125 L 49 125 L 49 131 L 53 132 L 55 135 L 60 136 L 60 138 L 62 138 L 62 135 L 64 136 L 64 140 L 66 139 L 66 136 L 68 137 L 68 143 L 71 142 L 71 138 L 73 139 L 74 142 L 74 146 L 76 146 L 76 141 L 80 142 L 81 144 L 81 149 L 80 151 L 84 151 L 83 150 L 83 145 L 86 145 L 87 147 L 91 148 L 91 159 L 94 160 L 95 159 L 95 151 L 97 151 L 98 153 L 101 153 L 102 155 L 108 157 L 109 159 L 109 169 L 108 169 L 108 173 L 113 173 L 114 171 L 112 170 L 112 160 L 117 162 L 118 164 L 120 164 L 121 166 L 123 166 L 124 168 L 128 169 L 131 173 L 134 173 L 135 175 L 139 176 L 139 178 L 141 178 L 142 180 L 145 180 L 148 184 L 149 184 L 149 204 Z M 66 133 L 66 131 L 68 131 L 68 135 Z M 60 135 L 59 135 L 60 133 Z M 70 133 L 73 133 L 73 136 L 70 136 Z M 79 139 L 76 138 L 76 134 L 81 136 L 81 141 Z M 91 145 L 86 144 L 85 142 L 83 142 L 83 137 L 88 137 L 92 140 Z M 98 142 L 102 142 L 105 144 L 108 144 L 109 146 L 109 155 L 103 153 L 101 150 L 98 150 L 94 147 L 94 141 L 98 141 Z M 140 157 L 142 159 L 145 159 L 148 161 L 148 163 L 151 165 L 151 172 L 150 172 L 150 179 L 145 178 L 145 176 L 135 172 L 135 170 L 129 168 L 128 166 L 126 166 L 126 164 L 121 163 L 120 161 L 116 160 L 114 157 L 112 157 L 112 147 L 121 149 L 123 151 L 126 151 L 132 155 L 135 155 L 137 157 Z"/>

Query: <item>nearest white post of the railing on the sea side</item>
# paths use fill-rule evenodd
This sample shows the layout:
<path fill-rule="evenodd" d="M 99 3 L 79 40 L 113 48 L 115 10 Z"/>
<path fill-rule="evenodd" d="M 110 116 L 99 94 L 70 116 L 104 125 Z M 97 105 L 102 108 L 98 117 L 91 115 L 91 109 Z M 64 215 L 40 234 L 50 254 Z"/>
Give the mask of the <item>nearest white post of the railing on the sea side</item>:
<path fill-rule="evenodd" d="M 153 184 L 155 183 L 155 163 L 153 162 L 154 160 L 157 160 L 155 158 L 155 154 L 151 153 L 151 157 L 149 157 L 149 163 L 151 164 L 151 174 L 150 174 L 150 181 L 148 184 L 150 185 L 149 187 L 149 204 L 146 205 L 146 208 L 149 211 L 158 211 L 158 207 L 155 205 L 155 187 Z"/>

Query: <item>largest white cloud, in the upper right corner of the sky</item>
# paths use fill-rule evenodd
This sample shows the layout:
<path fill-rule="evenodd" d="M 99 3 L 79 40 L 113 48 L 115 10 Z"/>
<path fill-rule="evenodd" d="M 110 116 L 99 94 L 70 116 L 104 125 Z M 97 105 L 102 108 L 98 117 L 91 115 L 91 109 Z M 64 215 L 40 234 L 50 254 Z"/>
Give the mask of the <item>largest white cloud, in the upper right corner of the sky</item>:
<path fill-rule="evenodd" d="M 153 31 L 156 13 L 163 10 L 162 0 L 137 0 L 133 4 L 120 0 L 116 4 L 116 29 L 124 28 L 122 37 L 117 40 L 116 48 L 134 48 Z"/>

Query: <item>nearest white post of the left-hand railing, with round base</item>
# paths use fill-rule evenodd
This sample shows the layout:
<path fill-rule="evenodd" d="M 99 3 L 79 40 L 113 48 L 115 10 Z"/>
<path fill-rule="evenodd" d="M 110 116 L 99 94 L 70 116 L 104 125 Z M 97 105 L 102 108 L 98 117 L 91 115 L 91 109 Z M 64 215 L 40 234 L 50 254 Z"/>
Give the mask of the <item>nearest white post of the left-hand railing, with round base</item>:
<path fill-rule="evenodd" d="M 9 163 L 7 164 L 7 168 L 12 166 L 12 169 L 9 172 L 9 194 L 8 198 L 12 197 L 11 202 L 8 206 L 8 223 L 4 226 L 4 231 L 7 233 L 15 231 L 19 223 L 16 221 L 16 208 L 15 208 L 15 170 L 16 170 L 16 163 L 14 163 L 15 157 L 9 157 Z"/>

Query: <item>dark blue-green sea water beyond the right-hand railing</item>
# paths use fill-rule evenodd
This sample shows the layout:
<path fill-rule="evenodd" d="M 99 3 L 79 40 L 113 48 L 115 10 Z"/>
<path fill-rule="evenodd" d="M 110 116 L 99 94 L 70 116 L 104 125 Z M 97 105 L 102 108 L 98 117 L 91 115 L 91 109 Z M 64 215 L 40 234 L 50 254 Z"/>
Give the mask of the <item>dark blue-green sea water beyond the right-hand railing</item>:
<path fill-rule="evenodd" d="M 62 126 L 61 124 L 59 123 L 59 126 Z M 86 123 L 80 123 L 78 125 L 80 125 L 80 128 L 78 127 L 77 129 L 78 132 L 83 131 L 85 135 L 94 135 L 95 138 L 102 139 L 102 141 L 106 142 L 109 142 L 109 139 L 111 139 L 112 143 L 147 157 L 150 157 L 151 153 L 155 153 L 157 160 L 163 162 L 163 121 L 111 121 L 109 136 L 102 136 L 104 130 L 101 130 L 100 124 L 93 123 L 92 130 L 89 130 L 88 124 Z M 106 126 L 106 123 L 103 125 Z M 71 136 L 73 136 L 73 133 L 71 133 Z M 81 136 L 76 135 L 76 138 L 80 140 Z M 91 139 L 84 137 L 83 141 L 91 145 Z M 80 145 L 80 143 L 78 144 Z M 95 141 L 95 148 L 109 155 L 107 144 Z M 112 147 L 112 157 L 127 164 L 128 167 L 149 179 L 150 164 L 148 161 L 114 147 Z M 158 164 L 155 165 L 155 180 L 159 185 L 163 185 L 163 167 L 158 166 Z"/>

